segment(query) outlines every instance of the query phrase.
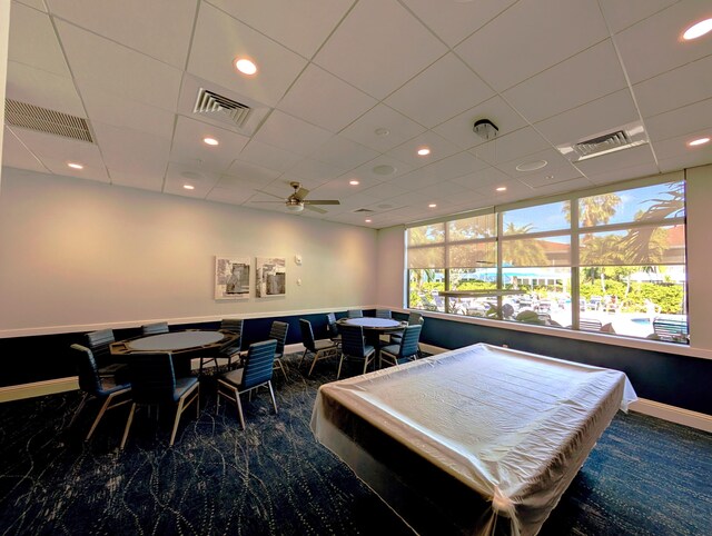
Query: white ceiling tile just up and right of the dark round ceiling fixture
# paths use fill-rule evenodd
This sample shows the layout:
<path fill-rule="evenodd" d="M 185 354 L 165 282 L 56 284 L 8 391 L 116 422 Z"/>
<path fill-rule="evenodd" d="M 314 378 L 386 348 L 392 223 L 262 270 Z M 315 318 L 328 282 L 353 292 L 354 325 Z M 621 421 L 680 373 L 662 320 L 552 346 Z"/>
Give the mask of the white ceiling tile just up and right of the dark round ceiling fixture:
<path fill-rule="evenodd" d="M 505 91 L 504 98 L 537 122 L 625 87 L 613 44 L 605 40 Z"/>

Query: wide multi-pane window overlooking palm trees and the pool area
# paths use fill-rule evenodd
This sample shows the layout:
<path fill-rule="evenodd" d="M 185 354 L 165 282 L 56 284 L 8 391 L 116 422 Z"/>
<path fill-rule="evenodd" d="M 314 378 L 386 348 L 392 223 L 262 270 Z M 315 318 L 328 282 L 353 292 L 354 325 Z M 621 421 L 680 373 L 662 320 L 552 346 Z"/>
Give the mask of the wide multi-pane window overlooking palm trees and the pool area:
<path fill-rule="evenodd" d="M 408 307 L 688 343 L 684 180 L 413 227 Z"/>

